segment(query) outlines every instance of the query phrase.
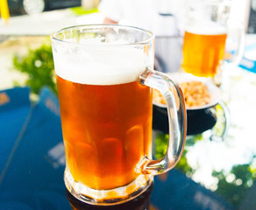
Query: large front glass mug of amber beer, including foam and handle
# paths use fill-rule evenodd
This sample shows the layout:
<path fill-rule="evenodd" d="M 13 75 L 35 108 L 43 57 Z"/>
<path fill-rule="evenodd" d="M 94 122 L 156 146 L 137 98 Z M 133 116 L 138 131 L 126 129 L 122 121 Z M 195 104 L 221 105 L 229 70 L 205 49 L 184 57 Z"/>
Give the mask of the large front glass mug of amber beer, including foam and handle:
<path fill-rule="evenodd" d="M 96 205 L 132 200 L 181 158 L 187 121 L 181 88 L 152 70 L 154 36 L 122 25 L 80 25 L 51 35 L 66 154 L 65 185 Z M 152 88 L 167 99 L 169 145 L 152 160 Z"/>

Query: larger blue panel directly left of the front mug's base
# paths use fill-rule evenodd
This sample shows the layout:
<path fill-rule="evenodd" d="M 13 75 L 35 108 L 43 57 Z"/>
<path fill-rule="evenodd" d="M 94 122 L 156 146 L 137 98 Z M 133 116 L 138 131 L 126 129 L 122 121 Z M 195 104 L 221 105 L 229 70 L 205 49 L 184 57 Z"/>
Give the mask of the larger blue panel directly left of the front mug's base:
<path fill-rule="evenodd" d="M 44 88 L 0 180 L 0 209 L 70 209 L 59 104 Z M 9 128 L 10 129 L 10 128 Z"/>

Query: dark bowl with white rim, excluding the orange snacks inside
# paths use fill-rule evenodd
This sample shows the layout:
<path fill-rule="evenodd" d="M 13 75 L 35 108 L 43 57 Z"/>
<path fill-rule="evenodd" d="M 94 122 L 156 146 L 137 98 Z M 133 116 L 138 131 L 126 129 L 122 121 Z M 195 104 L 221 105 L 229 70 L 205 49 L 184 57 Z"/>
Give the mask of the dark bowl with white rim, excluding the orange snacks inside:
<path fill-rule="evenodd" d="M 210 130 L 217 123 L 216 105 L 220 102 L 221 91 L 211 81 L 192 76 L 188 73 L 172 73 L 170 77 L 177 81 L 203 81 L 210 92 L 210 103 L 187 108 L 187 135 L 196 135 Z M 166 105 L 153 102 L 153 129 L 168 133 L 168 116 Z"/>

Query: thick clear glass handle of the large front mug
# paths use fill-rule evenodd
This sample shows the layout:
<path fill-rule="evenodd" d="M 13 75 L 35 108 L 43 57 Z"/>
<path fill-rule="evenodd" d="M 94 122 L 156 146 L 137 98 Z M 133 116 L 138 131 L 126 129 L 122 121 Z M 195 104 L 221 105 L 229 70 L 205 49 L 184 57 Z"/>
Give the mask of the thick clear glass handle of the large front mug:
<path fill-rule="evenodd" d="M 157 175 L 174 168 L 181 158 L 187 134 L 187 112 L 181 88 L 167 74 L 146 68 L 139 75 L 139 82 L 158 89 L 167 100 L 169 122 L 167 152 L 159 160 L 142 158 L 135 169 L 138 173 Z"/>

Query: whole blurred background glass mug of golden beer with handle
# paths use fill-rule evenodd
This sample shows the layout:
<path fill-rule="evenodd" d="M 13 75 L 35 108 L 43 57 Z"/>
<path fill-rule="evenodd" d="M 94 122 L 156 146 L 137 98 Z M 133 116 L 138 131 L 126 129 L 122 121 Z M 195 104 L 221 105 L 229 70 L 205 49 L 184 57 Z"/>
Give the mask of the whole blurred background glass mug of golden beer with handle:
<path fill-rule="evenodd" d="M 245 30 L 230 18 L 230 11 L 231 0 L 188 3 L 181 65 L 185 72 L 214 78 L 224 59 L 233 63 L 241 59 Z"/>

